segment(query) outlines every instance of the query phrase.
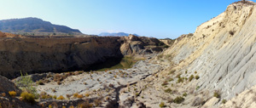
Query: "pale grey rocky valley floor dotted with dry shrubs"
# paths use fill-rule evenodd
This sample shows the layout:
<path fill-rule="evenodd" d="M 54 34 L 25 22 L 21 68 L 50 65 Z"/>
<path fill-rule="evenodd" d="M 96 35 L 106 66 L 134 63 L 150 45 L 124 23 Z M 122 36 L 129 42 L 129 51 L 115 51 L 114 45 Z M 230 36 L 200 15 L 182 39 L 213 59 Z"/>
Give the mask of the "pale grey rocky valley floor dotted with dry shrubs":
<path fill-rule="evenodd" d="M 73 71 L 64 73 L 44 73 L 30 75 L 39 94 L 39 105 L 78 106 L 88 100 L 94 107 L 139 107 L 145 106 L 141 99 L 144 90 L 154 92 L 147 77 L 154 77 L 168 65 L 160 65 L 151 60 L 156 54 L 145 55 L 146 60 L 138 61 L 130 69 L 111 71 Z M 146 80 L 147 79 L 147 80 Z M 20 80 L 16 78 L 14 82 Z M 147 83 L 143 83 L 147 82 Z M 60 97 L 63 98 L 61 99 Z M 148 94 L 143 98 L 154 99 Z M 154 107 L 159 103 L 148 106 Z"/>

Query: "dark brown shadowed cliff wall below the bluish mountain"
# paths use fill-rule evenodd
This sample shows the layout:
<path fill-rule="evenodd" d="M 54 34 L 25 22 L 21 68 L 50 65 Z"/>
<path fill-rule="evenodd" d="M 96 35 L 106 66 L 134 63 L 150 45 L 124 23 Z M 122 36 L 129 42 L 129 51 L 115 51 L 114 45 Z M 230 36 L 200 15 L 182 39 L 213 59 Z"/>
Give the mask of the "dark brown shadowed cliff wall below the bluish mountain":
<path fill-rule="evenodd" d="M 150 40 L 151 39 L 151 40 Z M 90 65 L 136 54 L 160 41 L 146 37 L 0 38 L 0 75 L 90 70 Z M 122 46 L 125 44 L 127 48 Z M 150 48 L 149 53 L 154 52 Z"/>

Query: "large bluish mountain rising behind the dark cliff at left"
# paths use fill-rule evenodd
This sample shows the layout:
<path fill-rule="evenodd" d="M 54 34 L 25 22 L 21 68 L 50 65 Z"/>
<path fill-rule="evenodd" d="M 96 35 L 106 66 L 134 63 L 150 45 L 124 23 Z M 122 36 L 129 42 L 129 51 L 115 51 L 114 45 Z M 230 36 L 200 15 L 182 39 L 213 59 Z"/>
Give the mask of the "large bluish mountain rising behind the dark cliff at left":
<path fill-rule="evenodd" d="M 0 20 L 0 31 L 21 35 L 81 35 L 82 32 L 67 26 L 51 24 L 38 18 Z"/>

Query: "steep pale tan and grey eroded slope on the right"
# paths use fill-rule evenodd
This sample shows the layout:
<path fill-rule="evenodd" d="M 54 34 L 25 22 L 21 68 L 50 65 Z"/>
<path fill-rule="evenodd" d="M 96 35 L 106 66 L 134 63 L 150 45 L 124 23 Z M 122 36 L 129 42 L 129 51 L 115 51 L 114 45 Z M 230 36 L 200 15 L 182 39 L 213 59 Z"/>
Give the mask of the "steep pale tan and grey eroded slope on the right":
<path fill-rule="evenodd" d="M 232 3 L 217 17 L 198 26 L 166 50 L 175 69 L 201 77 L 186 87 L 219 90 L 230 99 L 256 84 L 256 8 L 253 2 Z"/>

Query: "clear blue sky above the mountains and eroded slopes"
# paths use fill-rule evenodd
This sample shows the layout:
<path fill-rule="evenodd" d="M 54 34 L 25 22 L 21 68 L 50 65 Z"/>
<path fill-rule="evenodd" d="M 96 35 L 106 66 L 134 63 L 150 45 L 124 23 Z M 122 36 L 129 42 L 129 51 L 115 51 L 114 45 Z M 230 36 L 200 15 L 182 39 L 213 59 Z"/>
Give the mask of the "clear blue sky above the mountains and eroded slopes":
<path fill-rule="evenodd" d="M 0 20 L 36 17 L 84 34 L 177 38 L 238 0 L 0 0 Z M 255 2 L 255 1 L 254 1 Z"/>

